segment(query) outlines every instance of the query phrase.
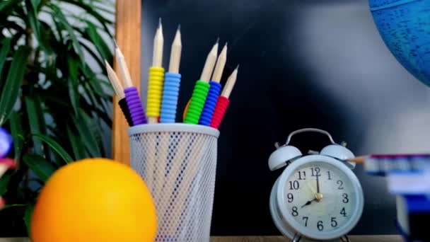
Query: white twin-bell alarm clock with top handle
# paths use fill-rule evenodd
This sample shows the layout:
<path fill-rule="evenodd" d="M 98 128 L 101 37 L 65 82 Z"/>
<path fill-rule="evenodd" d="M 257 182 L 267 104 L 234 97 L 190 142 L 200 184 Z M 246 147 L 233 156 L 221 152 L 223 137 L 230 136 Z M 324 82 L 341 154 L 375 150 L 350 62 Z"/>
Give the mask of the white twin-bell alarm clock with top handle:
<path fill-rule="evenodd" d="M 289 145 L 301 132 L 326 134 L 331 144 L 303 156 Z M 270 212 L 279 231 L 292 241 L 349 241 L 347 234 L 361 217 L 364 197 L 351 171 L 355 163 L 346 161 L 354 154 L 345 146 L 324 130 L 299 129 L 270 155 L 271 171 L 286 166 L 273 185 Z"/>

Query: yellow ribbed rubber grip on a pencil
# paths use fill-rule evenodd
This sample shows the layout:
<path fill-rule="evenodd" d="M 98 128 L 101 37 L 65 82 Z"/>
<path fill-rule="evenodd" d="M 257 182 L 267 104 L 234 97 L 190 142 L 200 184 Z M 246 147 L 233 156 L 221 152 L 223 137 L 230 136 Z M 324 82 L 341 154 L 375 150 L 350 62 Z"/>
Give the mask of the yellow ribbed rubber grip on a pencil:
<path fill-rule="evenodd" d="M 148 101 L 146 103 L 146 115 L 159 117 L 161 113 L 161 96 L 163 95 L 164 68 L 149 68 Z"/>

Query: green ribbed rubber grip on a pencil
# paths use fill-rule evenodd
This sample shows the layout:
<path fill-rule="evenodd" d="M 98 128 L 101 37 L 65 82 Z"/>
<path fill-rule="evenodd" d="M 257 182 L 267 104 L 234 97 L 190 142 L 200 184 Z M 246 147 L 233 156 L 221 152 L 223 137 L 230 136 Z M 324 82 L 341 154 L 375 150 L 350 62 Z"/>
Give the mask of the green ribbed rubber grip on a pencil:
<path fill-rule="evenodd" d="M 202 114 L 209 86 L 209 83 L 204 81 L 199 80 L 196 82 L 194 90 L 192 91 L 190 106 L 188 107 L 187 115 L 185 115 L 185 123 L 194 125 L 199 123 L 199 118 Z"/>

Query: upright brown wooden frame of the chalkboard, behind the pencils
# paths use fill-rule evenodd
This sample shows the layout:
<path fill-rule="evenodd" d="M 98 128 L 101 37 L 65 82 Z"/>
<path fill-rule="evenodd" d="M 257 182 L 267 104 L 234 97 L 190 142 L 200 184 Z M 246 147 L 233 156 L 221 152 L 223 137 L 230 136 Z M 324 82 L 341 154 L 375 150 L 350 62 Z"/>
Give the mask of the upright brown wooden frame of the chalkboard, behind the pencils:
<path fill-rule="evenodd" d="M 116 40 L 129 67 L 132 81 L 140 91 L 140 42 L 141 42 L 141 0 L 117 0 L 116 3 Z M 117 64 L 114 63 L 117 71 Z M 113 100 L 112 159 L 129 165 L 130 147 L 127 134 L 128 125 L 122 115 L 118 100 Z"/>

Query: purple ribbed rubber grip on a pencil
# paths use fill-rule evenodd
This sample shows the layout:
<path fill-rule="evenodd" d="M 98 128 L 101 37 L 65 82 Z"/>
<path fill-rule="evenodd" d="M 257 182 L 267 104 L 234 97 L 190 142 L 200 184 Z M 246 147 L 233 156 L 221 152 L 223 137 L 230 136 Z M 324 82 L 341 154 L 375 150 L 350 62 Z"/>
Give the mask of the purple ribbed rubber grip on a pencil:
<path fill-rule="evenodd" d="M 125 100 L 129 106 L 130 116 L 132 117 L 133 125 L 146 124 L 146 116 L 144 108 L 140 102 L 139 92 L 135 86 L 124 89 Z"/>

